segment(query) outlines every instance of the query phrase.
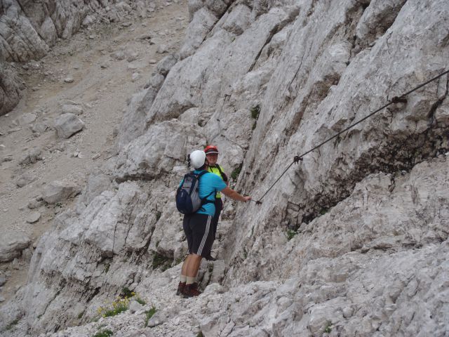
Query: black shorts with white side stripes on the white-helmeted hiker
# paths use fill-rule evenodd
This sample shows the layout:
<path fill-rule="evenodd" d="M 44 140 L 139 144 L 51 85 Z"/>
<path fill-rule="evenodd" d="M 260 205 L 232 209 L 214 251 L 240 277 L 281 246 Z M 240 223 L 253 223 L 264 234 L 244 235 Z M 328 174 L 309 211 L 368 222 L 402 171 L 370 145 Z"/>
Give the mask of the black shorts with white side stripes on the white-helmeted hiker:
<path fill-rule="evenodd" d="M 213 244 L 213 217 L 207 214 L 189 214 L 184 216 L 182 227 L 187 237 L 189 253 L 209 256 Z"/>

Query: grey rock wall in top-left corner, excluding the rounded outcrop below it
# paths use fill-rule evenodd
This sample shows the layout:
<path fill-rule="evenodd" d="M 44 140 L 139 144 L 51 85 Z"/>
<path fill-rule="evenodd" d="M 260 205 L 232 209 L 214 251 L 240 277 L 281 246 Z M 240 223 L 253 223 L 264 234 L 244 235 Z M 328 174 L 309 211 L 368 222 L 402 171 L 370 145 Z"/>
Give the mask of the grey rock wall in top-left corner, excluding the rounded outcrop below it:
<path fill-rule="evenodd" d="M 127 2 L 130 1 L 116 4 L 116 1 L 88 0 L 80 4 L 76 0 L 2 0 L 1 49 L 6 51 L 7 61 L 37 60 L 46 55 L 56 39 L 72 37 L 88 14 L 96 13 L 102 20 L 121 20 L 132 9 Z"/>

